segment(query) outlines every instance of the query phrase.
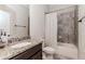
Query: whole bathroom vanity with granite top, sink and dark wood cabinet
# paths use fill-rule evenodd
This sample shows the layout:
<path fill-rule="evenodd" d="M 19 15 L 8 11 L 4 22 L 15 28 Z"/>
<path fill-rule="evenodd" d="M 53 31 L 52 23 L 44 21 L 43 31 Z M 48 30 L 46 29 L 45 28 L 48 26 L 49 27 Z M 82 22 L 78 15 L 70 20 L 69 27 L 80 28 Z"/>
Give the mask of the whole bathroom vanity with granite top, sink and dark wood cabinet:
<path fill-rule="evenodd" d="M 42 41 L 18 41 L 0 49 L 0 60 L 42 60 Z"/>

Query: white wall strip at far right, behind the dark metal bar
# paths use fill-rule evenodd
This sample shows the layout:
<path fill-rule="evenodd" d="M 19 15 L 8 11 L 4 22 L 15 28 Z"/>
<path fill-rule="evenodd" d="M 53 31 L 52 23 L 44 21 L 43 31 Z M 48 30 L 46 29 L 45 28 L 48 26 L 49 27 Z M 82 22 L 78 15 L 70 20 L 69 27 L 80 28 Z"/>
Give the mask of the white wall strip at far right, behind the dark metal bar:
<path fill-rule="evenodd" d="M 85 16 L 85 5 L 79 5 L 79 20 Z M 79 23 L 79 59 L 85 59 L 85 18 Z"/>

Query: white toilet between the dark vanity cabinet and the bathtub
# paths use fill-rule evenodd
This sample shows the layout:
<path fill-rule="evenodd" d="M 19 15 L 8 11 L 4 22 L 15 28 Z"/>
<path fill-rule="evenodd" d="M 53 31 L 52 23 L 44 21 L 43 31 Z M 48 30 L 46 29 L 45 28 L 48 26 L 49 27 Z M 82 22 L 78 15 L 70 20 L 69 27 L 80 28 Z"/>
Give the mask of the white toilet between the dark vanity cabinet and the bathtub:
<path fill-rule="evenodd" d="M 43 48 L 43 60 L 54 60 L 55 49 L 51 47 Z"/>

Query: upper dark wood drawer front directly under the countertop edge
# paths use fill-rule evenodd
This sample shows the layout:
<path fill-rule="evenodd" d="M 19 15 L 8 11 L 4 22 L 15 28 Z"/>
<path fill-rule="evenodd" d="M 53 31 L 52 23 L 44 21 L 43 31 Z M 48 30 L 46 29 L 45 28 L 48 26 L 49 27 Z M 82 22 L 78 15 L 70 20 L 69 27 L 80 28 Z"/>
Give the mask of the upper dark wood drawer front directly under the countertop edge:
<path fill-rule="evenodd" d="M 42 43 L 34 46 L 26 51 L 24 51 L 23 53 L 19 53 L 13 57 L 11 57 L 10 60 L 28 60 L 30 59 L 32 55 L 34 55 L 36 53 L 38 53 L 39 51 L 42 51 Z"/>

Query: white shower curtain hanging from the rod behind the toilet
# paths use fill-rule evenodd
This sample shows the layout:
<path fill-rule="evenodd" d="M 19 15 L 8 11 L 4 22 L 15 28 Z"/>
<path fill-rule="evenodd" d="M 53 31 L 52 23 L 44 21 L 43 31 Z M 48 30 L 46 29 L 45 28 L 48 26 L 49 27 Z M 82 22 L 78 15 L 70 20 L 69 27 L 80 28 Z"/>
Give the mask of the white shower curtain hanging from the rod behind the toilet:
<path fill-rule="evenodd" d="M 45 15 L 45 44 L 56 48 L 57 44 L 57 13 Z"/>

